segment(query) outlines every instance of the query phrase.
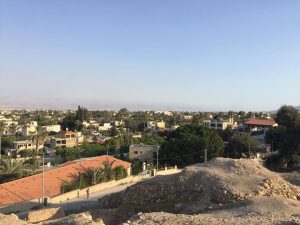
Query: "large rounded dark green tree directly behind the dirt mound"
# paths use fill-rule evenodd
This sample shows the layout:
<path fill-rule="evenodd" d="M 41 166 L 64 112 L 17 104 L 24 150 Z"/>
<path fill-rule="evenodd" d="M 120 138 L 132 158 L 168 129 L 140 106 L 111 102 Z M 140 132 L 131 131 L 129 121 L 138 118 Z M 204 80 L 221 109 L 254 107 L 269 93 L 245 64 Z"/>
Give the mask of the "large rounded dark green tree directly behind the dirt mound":
<path fill-rule="evenodd" d="M 223 141 L 219 135 L 199 125 L 184 125 L 171 132 L 159 150 L 159 163 L 178 166 L 203 162 L 223 154 Z"/>

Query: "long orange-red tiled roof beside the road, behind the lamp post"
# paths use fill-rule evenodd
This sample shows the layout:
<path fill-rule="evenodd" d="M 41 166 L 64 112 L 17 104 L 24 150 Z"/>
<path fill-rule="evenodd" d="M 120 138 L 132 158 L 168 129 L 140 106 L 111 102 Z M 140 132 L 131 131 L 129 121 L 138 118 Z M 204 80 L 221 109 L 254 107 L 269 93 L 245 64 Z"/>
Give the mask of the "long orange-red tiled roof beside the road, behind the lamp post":
<path fill-rule="evenodd" d="M 124 166 L 129 168 L 130 163 L 111 156 L 99 156 L 81 161 L 66 163 L 61 167 L 45 172 L 45 197 L 53 197 L 61 194 L 61 186 L 64 181 L 69 182 L 78 175 L 78 172 L 88 168 L 101 167 L 105 161 L 112 162 L 113 168 Z M 25 177 L 15 181 L 0 184 L 0 206 L 20 203 L 42 196 L 42 174 Z"/>

